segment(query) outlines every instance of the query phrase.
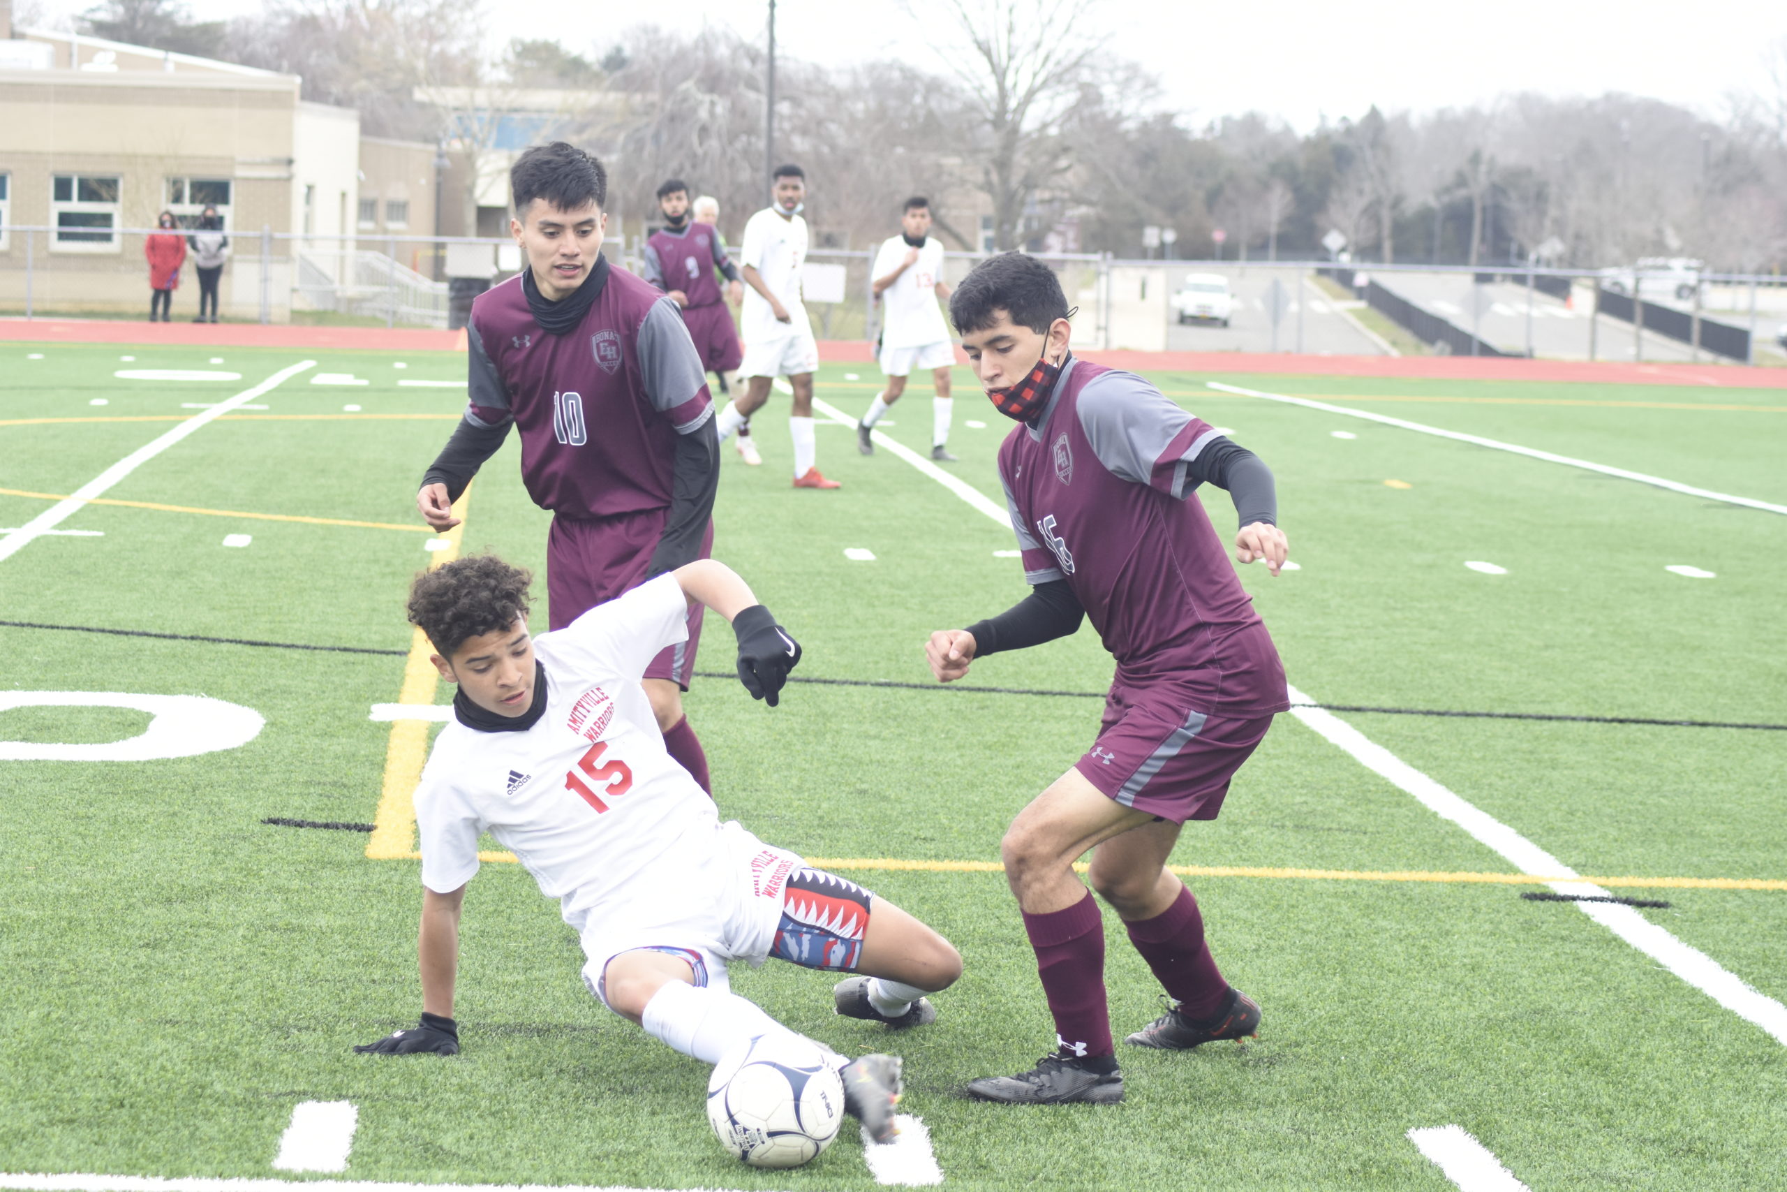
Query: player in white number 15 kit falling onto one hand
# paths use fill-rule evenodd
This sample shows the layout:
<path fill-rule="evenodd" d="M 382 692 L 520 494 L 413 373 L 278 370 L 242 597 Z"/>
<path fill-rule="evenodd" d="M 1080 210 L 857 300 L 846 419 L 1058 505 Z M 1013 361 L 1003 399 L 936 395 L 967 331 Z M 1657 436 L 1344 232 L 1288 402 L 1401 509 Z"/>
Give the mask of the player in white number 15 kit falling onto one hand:
<path fill-rule="evenodd" d="M 956 949 L 856 883 L 720 824 L 713 801 L 665 752 L 640 676 L 686 638 L 688 600 L 733 622 L 738 677 L 752 697 L 774 706 L 801 659 L 745 581 L 699 559 L 534 640 L 531 579 L 475 556 L 411 588 L 409 620 L 434 643 L 434 667 L 459 684 L 415 801 L 424 1013 L 420 1026 L 356 1051 L 459 1051 L 459 910 L 484 831 L 559 899 L 588 956 L 590 992 L 683 1054 L 718 1063 L 754 1037 L 788 1031 L 729 992 L 734 960 L 854 972 L 833 990 L 838 1013 L 897 1028 L 931 1022 L 924 994 L 961 974 Z M 892 1138 L 901 1062 L 836 1063 L 847 1112 L 876 1140 Z"/>

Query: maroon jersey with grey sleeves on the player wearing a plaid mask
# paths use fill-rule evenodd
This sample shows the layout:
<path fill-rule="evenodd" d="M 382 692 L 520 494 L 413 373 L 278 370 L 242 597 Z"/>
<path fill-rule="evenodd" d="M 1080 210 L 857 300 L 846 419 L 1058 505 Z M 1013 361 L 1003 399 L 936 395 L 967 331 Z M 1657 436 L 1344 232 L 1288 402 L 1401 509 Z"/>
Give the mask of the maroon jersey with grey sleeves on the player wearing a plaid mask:
<path fill-rule="evenodd" d="M 1140 377 L 1069 359 L 1036 425 L 1001 445 L 999 479 L 1024 579 L 1067 579 L 1117 658 L 1117 683 L 1263 717 L 1288 708 L 1285 670 L 1187 491 L 1187 466 L 1213 438 Z"/>

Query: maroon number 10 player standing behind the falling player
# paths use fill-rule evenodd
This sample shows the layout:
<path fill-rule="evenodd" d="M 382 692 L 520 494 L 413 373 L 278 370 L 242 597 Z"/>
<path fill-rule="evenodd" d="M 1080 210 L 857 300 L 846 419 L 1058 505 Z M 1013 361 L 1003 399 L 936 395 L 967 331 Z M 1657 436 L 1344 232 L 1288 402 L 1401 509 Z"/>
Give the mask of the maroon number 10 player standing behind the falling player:
<path fill-rule="evenodd" d="M 713 549 L 720 445 L 708 366 L 683 311 L 602 256 L 608 175 L 556 141 L 509 170 L 509 231 L 527 256 L 516 277 L 481 293 L 466 325 L 470 404 L 422 477 L 416 506 L 438 531 L 457 525 L 452 502 L 479 466 L 522 434 L 522 481 L 547 534 L 549 624 Z M 688 640 L 645 670 L 665 749 L 702 790 L 708 758 L 683 715 L 695 672 L 701 606 Z"/>

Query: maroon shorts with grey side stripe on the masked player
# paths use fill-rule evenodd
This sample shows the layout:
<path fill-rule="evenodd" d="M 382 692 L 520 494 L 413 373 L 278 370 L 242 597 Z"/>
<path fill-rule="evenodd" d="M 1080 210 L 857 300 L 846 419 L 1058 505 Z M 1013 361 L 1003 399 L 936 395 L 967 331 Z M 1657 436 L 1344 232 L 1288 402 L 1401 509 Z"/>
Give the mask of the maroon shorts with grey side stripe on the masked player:
<path fill-rule="evenodd" d="M 1113 684 L 1099 740 L 1074 763 L 1108 797 L 1163 820 L 1213 820 L 1272 717 L 1206 715 L 1170 688 Z"/>

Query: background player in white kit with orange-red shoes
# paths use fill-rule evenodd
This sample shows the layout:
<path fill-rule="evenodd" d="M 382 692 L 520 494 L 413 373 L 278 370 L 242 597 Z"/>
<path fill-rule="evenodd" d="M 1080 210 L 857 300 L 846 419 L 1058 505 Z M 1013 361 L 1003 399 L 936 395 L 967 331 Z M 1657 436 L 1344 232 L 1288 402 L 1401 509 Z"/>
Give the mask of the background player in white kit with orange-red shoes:
<path fill-rule="evenodd" d="M 793 438 L 793 486 L 838 488 L 818 466 L 813 434 L 813 370 L 818 368 L 818 341 L 801 300 L 801 266 L 806 263 L 806 172 L 777 166 L 774 206 L 758 211 L 745 223 L 745 243 L 738 250 L 745 275 L 745 359 L 738 377 L 745 393 L 720 411 L 715 424 L 720 441 L 733 434 L 763 402 L 770 400 L 770 382 L 788 377 L 793 386 L 793 413 L 788 434 Z"/>

